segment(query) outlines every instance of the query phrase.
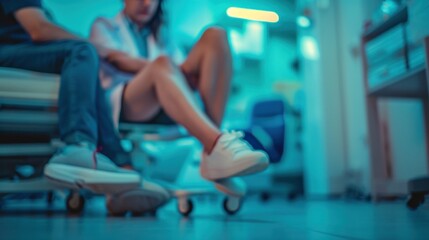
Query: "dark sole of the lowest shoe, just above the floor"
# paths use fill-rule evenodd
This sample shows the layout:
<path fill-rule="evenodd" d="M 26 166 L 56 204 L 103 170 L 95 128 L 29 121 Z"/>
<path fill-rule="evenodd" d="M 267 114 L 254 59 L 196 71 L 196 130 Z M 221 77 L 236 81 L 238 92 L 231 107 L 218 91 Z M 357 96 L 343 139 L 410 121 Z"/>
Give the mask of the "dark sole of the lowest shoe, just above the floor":
<path fill-rule="evenodd" d="M 120 215 L 126 212 L 148 213 L 156 210 L 167 203 L 169 197 L 165 194 L 134 189 L 118 193 L 107 200 L 107 210 L 110 214 Z"/>

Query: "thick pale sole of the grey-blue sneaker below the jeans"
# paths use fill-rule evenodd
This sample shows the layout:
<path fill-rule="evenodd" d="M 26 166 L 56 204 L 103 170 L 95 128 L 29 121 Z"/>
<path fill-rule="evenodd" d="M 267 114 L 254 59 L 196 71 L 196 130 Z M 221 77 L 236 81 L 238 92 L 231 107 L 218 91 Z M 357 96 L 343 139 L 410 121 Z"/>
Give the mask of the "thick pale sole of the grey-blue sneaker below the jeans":
<path fill-rule="evenodd" d="M 85 188 L 95 193 L 118 193 L 139 187 L 141 181 L 138 174 L 114 173 L 57 163 L 47 164 L 44 175 L 54 183 L 71 188 Z"/>

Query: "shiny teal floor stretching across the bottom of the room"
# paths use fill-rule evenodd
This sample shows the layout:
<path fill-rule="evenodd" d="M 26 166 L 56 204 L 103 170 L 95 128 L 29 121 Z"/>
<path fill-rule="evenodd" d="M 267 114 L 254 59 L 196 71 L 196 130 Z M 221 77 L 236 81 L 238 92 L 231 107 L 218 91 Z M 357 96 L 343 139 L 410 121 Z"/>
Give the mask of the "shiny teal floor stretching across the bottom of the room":
<path fill-rule="evenodd" d="M 335 201 L 261 203 L 248 199 L 237 216 L 220 200 L 200 200 L 189 218 L 175 203 L 156 217 L 108 217 L 102 198 L 83 216 L 68 216 L 56 202 L 13 202 L 0 211 L 0 239 L 429 239 L 429 206 L 411 212 L 402 202 Z"/>

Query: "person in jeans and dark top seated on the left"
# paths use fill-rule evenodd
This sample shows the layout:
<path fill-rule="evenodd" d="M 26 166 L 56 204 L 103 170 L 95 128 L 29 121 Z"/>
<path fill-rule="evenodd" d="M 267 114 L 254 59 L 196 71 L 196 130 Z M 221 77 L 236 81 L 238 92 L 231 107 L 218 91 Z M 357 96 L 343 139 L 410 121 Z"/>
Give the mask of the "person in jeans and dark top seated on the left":
<path fill-rule="evenodd" d="M 45 176 L 113 193 L 140 186 L 141 177 L 118 167 L 129 159 L 123 157 L 126 154 L 100 86 L 96 48 L 103 52 L 102 47 L 50 21 L 40 0 L 0 0 L 0 67 L 61 75 L 59 132 L 66 146 L 45 166 Z M 103 154 L 96 151 L 97 146 Z M 146 201 L 153 206 L 168 198 L 161 187 L 149 190 L 162 195 L 156 196 L 157 202 Z"/>

